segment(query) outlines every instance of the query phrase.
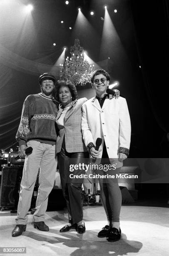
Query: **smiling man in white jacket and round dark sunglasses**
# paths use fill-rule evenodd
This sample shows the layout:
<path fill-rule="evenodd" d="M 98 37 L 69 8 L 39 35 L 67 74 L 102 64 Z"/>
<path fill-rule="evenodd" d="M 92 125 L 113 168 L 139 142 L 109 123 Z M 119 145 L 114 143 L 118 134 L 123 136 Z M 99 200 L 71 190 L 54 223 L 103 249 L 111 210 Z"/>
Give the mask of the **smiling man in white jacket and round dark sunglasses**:
<path fill-rule="evenodd" d="M 82 106 L 82 133 L 89 153 L 97 158 L 97 164 L 116 163 L 114 173 L 118 174 L 122 161 L 129 155 L 131 124 L 125 98 L 116 99 L 107 94 L 109 80 L 105 70 L 97 69 L 93 72 L 91 82 L 96 96 Z M 99 151 L 95 150 L 97 138 L 102 138 Z M 98 237 L 117 241 L 121 238 L 119 215 L 122 204 L 118 180 L 115 175 L 112 179 L 99 179 L 99 183 L 108 223 L 98 233 Z"/>

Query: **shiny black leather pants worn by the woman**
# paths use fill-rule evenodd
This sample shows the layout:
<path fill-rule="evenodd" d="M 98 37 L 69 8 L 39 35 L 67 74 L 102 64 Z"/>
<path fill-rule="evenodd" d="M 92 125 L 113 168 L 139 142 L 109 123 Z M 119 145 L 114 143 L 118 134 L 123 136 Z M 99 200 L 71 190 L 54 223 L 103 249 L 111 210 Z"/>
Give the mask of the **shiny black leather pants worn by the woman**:
<path fill-rule="evenodd" d="M 65 140 L 58 154 L 58 164 L 63 196 L 67 203 L 69 223 L 78 223 L 83 219 L 83 197 L 82 183 L 83 178 L 70 178 L 70 174 L 85 174 L 85 170 L 74 170 L 70 172 L 70 164 L 83 163 L 84 158 L 89 158 L 88 152 L 68 153 L 65 149 Z"/>

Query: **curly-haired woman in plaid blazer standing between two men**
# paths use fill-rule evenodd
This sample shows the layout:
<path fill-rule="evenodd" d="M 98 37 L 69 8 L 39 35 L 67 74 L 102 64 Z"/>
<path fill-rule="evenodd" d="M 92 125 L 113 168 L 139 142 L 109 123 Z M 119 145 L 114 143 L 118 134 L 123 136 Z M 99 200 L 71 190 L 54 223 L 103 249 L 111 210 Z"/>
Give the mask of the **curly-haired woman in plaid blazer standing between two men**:
<path fill-rule="evenodd" d="M 83 178 L 71 178 L 70 174 L 85 174 L 85 170 L 75 169 L 70 172 L 71 164 L 84 163 L 89 153 L 82 139 L 82 105 L 87 98 L 77 100 L 77 90 L 71 82 L 58 81 L 55 98 L 60 102 L 56 124 L 58 137 L 56 153 L 58 156 L 59 172 L 63 195 L 67 202 L 69 223 L 60 232 L 76 228 L 78 233 L 85 232 L 83 221 Z M 73 176 L 72 175 L 72 176 Z"/>

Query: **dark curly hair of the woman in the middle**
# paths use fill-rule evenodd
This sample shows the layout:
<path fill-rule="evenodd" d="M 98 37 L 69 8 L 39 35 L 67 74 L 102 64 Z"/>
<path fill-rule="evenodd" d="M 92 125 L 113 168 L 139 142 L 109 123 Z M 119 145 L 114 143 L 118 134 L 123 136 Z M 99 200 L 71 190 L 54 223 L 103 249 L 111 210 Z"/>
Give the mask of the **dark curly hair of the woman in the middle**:
<path fill-rule="evenodd" d="M 60 91 L 60 88 L 61 88 L 61 87 L 67 87 L 67 88 L 69 88 L 70 93 L 71 93 L 71 95 L 72 95 L 72 100 L 78 99 L 76 87 L 75 87 L 74 84 L 72 84 L 72 82 L 70 82 L 70 81 L 65 82 L 65 80 L 58 80 L 58 81 L 56 82 L 55 89 L 54 89 L 54 95 L 53 95 L 53 97 L 54 97 L 58 102 L 59 102 L 59 91 Z"/>

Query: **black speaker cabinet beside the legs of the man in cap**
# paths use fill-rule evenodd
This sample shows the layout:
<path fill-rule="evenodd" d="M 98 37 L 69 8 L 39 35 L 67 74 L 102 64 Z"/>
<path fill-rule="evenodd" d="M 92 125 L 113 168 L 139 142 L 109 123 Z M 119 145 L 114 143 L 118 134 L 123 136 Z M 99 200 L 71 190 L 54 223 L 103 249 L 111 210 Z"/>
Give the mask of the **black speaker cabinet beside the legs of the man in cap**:
<path fill-rule="evenodd" d="M 23 167 L 2 167 L 0 208 L 17 208 Z"/>

